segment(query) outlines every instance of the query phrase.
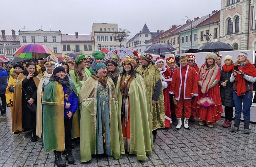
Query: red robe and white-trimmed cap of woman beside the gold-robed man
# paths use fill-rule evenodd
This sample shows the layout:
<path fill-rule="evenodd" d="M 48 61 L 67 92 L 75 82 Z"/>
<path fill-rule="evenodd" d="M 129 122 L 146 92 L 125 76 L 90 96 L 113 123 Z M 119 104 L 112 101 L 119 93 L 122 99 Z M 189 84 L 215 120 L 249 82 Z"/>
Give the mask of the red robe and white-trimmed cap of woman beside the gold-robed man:
<path fill-rule="evenodd" d="M 164 62 L 163 58 L 158 57 L 156 59 L 155 65 L 159 62 Z M 165 111 L 165 127 L 170 127 L 172 123 L 171 118 L 171 107 L 170 107 L 170 95 L 169 90 L 171 87 L 171 73 L 164 66 L 159 68 L 161 78 L 162 78 L 162 87 L 163 87 L 163 97 L 164 97 L 164 111 Z"/>

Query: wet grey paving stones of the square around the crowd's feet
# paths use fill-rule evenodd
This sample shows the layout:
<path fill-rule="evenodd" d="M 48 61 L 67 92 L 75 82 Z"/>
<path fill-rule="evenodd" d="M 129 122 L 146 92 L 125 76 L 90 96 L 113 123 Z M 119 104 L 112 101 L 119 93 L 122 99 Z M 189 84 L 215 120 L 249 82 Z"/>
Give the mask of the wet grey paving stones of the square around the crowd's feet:
<path fill-rule="evenodd" d="M 218 121 L 213 128 L 189 122 L 189 129 L 171 128 L 158 130 L 154 152 L 146 161 L 138 161 L 135 155 L 113 157 L 93 157 L 91 161 L 80 161 L 79 143 L 73 142 L 75 164 L 67 166 L 111 166 L 111 167 L 234 167 L 256 166 L 256 128 L 250 124 L 250 135 L 243 133 L 243 122 L 238 133 L 223 128 Z M 14 135 L 11 132 L 11 113 L 0 116 L 0 167 L 8 166 L 54 166 L 54 154 L 44 153 L 42 139 L 32 143 L 31 132 Z M 62 157 L 65 159 L 65 156 Z M 56 165 L 55 165 L 56 166 Z"/>

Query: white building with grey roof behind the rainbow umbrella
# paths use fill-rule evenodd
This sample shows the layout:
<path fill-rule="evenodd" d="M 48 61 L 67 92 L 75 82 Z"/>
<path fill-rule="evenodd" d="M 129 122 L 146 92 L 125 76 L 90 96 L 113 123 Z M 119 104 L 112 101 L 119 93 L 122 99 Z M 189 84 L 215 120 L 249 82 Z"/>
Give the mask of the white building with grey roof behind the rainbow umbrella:
<path fill-rule="evenodd" d="M 59 31 L 43 31 L 38 29 L 36 31 L 20 31 L 19 30 L 20 45 L 27 44 L 41 44 L 49 47 L 55 55 L 62 56 L 61 47 L 61 32 Z"/>

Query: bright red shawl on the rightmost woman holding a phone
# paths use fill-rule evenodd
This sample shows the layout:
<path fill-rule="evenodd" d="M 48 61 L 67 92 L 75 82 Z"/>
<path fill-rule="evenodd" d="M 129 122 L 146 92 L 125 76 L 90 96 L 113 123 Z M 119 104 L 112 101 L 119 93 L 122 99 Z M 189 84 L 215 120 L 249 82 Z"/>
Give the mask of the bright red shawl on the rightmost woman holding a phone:
<path fill-rule="evenodd" d="M 250 62 L 248 62 L 247 65 L 245 65 L 243 68 L 238 67 L 239 70 L 242 70 L 244 74 L 256 77 L 256 70 L 254 65 L 252 65 Z M 235 81 L 237 82 L 237 96 L 241 96 L 241 94 L 246 92 L 245 89 L 245 79 L 242 77 L 242 75 L 237 75 Z"/>

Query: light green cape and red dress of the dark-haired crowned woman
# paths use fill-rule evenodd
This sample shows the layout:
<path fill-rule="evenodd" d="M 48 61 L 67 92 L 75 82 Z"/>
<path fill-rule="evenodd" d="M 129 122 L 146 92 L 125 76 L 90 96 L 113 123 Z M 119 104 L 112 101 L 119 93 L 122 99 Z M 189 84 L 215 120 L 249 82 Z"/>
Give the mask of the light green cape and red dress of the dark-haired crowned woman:
<path fill-rule="evenodd" d="M 121 111 L 122 104 L 120 87 L 129 84 L 129 96 L 124 98 L 126 115 L 122 119 L 124 147 L 130 154 L 136 154 L 138 160 L 146 160 L 146 155 L 151 155 L 154 150 L 146 86 L 140 74 L 132 80 L 125 78 L 125 83 L 122 76 L 117 80 L 118 111 Z"/>

